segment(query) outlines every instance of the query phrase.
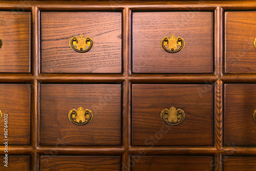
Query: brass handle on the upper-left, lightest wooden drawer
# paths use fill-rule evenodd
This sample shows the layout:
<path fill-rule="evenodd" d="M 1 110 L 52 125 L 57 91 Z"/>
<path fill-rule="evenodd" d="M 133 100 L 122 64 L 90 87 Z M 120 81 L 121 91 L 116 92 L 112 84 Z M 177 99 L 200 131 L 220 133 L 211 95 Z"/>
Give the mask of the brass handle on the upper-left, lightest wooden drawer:
<path fill-rule="evenodd" d="M 93 39 L 89 36 L 84 37 L 84 35 L 81 34 L 78 37 L 74 36 L 70 38 L 69 45 L 74 51 L 84 53 L 92 49 Z"/>

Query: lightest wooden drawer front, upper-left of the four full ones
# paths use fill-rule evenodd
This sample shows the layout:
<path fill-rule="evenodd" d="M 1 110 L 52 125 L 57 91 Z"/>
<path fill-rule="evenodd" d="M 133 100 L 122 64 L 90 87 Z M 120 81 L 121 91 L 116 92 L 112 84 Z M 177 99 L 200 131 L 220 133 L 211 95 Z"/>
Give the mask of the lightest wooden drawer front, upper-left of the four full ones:
<path fill-rule="evenodd" d="M 70 47 L 81 34 L 94 42 L 86 53 Z M 121 12 L 41 12 L 41 72 L 121 73 L 121 34 Z"/>

